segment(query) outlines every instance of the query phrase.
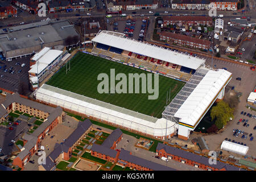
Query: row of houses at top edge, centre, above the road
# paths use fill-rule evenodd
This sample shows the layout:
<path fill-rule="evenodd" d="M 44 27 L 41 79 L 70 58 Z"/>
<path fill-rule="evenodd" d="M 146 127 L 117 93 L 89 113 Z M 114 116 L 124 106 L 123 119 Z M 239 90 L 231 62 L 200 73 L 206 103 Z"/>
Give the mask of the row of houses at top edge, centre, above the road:
<path fill-rule="evenodd" d="M 108 0 L 108 11 L 150 10 L 158 8 L 156 0 Z"/>

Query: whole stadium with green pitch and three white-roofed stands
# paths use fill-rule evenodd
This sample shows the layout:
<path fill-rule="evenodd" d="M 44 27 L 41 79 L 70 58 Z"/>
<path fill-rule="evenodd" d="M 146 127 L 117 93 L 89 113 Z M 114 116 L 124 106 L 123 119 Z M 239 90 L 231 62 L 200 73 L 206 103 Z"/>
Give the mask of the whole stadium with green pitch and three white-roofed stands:
<path fill-rule="evenodd" d="M 217 99 L 224 97 L 232 73 L 210 69 L 205 60 L 171 49 L 138 42 L 125 34 L 100 31 L 93 49 L 77 53 L 67 65 L 36 90 L 36 100 L 110 125 L 166 139 L 191 131 Z M 148 94 L 100 94 L 97 75 L 159 74 L 159 97 Z"/>

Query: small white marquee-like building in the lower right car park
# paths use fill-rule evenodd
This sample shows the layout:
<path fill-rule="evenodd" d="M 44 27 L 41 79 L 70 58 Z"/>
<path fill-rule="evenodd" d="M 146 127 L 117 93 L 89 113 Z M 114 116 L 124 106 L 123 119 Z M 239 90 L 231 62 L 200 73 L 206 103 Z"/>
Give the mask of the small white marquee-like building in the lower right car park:
<path fill-rule="evenodd" d="M 247 151 L 249 150 L 249 147 L 224 140 L 221 144 L 221 149 L 241 155 L 246 155 Z"/>

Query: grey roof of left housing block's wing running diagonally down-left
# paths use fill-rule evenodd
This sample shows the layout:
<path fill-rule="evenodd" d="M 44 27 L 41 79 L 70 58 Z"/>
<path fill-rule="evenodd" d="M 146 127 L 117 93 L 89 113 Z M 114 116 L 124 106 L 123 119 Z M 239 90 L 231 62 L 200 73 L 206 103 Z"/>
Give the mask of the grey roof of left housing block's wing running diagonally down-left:
<path fill-rule="evenodd" d="M 49 107 L 49 106 L 48 106 Z M 32 133 L 33 136 L 35 136 L 36 138 L 43 133 L 44 130 L 46 130 L 46 128 L 51 125 L 51 123 L 61 115 L 61 113 L 63 112 L 62 108 L 60 106 L 54 108 L 52 107 L 54 110 L 49 114 L 48 118 L 46 118 L 46 120 L 42 123 L 42 125 L 40 125 L 35 131 L 34 133 Z"/>

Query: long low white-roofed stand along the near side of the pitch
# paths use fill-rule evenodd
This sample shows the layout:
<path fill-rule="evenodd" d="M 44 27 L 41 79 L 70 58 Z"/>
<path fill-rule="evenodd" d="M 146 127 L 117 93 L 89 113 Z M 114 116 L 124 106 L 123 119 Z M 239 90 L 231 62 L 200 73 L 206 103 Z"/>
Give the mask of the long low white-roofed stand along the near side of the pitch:
<path fill-rule="evenodd" d="M 174 133 L 174 125 L 177 125 L 175 122 L 167 122 L 164 118 L 154 118 L 46 84 L 43 84 L 36 91 L 36 100 L 74 110 L 153 136 L 170 135 Z"/>

